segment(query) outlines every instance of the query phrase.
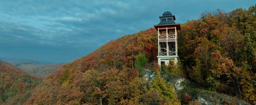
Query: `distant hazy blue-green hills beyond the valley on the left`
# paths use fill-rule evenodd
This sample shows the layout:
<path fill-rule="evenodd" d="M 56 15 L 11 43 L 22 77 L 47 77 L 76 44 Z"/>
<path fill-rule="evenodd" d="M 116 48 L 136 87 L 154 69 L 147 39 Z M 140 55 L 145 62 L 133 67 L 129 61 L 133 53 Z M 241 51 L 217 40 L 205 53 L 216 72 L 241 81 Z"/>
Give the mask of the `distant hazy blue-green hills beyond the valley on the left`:
<path fill-rule="evenodd" d="M 48 74 L 54 74 L 55 71 L 63 65 L 63 63 L 51 64 L 40 61 L 16 61 L 11 64 L 42 79 L 44 79 Z"/>

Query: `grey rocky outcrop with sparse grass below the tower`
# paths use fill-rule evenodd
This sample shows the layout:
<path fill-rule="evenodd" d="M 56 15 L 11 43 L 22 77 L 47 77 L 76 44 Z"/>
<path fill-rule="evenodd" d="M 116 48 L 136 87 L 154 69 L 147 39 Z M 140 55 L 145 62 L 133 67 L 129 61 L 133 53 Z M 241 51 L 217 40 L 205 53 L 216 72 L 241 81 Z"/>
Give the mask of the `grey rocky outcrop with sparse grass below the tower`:
<path fill-rule="evenodd" d="M 155 72 L 150 71 L 149 69 L 144 69 L 144 77 L 147 80 L 152 81 L 155 77 Z M 184 93 L 192 96 L 191 101 L 200 101 L 202 105 L 250 105 L 249 103 L 231 97 L 229 95 L 216 93 L 214 91 L 205 90 L 202 87 L 196 85 L 178 75 L 170 75 L 170 74 L 161 74 L 161 76 L 167 81 L 172 83 L 175 87 L 175 92 L 178 95 L 178 99 L 181 101 Z"/>

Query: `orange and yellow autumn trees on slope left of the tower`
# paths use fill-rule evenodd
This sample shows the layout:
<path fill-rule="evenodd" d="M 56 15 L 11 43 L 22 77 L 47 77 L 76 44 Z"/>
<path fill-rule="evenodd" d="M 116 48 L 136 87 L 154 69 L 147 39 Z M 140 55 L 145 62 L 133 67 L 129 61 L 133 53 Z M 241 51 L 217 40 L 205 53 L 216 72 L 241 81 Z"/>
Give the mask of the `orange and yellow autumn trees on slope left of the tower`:
<path fill-rule="evenodd" d="M 160 73 L 153 81 L 143 77 L 144 69 L 158 69 L 156 47 L 154 28 L 108 42 L 46 77 L 24 104 L 180 105 Z"/>

